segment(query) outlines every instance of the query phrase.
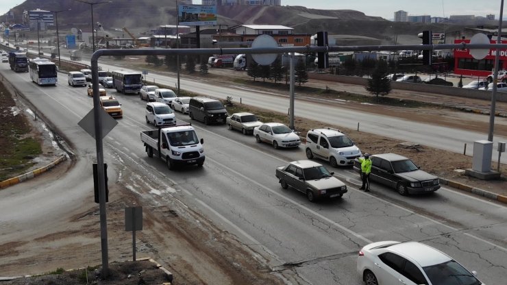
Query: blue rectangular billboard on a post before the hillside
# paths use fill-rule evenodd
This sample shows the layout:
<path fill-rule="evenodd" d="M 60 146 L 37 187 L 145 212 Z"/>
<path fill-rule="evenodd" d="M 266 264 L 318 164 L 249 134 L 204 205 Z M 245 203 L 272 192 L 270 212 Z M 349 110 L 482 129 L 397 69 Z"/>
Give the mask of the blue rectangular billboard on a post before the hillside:
<path fill-rule="evenodd" d="M 178 23 L 188 26 L 217 25 L 217 6 L 178 5 Z"/>

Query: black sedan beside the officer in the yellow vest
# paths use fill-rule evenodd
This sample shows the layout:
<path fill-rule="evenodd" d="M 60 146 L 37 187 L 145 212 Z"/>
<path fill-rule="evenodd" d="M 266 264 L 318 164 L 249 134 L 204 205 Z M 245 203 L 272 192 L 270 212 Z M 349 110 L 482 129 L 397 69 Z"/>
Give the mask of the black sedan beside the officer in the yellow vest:
<path fill-rule="evenodd" d="M 438 177 L 422 171 L 404 156 L 382 153 L 370 156 L 370 159 L 370 181 L 395 188 L 401 195 L 429 193 L 440 188 Z M 354 169 L 360 173 L 361 164 L 357 159 Z"/>

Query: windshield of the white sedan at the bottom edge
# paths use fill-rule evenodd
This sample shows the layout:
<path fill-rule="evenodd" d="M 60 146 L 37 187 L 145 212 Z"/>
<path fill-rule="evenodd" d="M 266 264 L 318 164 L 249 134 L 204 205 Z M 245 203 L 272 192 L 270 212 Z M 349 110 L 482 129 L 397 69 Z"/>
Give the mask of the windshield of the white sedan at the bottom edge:
<path fill-rule="evenodd" d="M 480 285 L 481 282 L 458 262 L 449 260 L 441 264 L 423 267 L 430 282 L 436 285 Z"/>

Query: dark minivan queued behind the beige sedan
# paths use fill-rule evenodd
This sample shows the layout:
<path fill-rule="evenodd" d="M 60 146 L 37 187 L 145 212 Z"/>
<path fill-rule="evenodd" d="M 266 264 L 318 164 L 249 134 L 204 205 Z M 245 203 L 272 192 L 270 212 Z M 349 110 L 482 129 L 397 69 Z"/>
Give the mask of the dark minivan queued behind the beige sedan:
<path fill-rule="evenodd" d="M 188 115 L 190 119 L 203 122 L 205 125 L 210 123 L 225 124 L 227 110 L 222 102 L 208 97 L 193 97 L 188 103 Z"/>

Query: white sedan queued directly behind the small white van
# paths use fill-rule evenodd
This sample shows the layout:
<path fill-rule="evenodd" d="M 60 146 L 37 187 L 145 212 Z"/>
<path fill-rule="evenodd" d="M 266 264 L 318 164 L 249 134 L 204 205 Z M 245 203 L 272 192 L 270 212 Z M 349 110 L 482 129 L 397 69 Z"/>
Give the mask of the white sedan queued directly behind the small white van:
<path fill-rule="evenodd" d="M 257 143 L 269 143 L 275 149 L 278 147 L 299 147 L 299 136 L 282 123 L 265 123 L 253 129 L 253 136 Z"/>

